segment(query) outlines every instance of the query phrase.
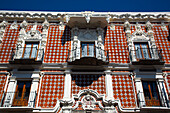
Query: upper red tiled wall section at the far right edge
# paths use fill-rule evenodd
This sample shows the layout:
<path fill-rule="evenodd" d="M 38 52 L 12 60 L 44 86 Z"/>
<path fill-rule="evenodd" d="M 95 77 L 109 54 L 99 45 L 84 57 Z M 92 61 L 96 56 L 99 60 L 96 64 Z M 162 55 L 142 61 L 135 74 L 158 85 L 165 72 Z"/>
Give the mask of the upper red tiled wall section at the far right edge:
<path fill-rule="evenodd" d="M 167 26 L 168 30 L 168 26 Z M 161 26 L 153 26 L 155 43 L 158 50 L 162 49 L 163 60 L 170 63 L 170 41 L 168 41 L 169 31 L 163 31 Z"/>

